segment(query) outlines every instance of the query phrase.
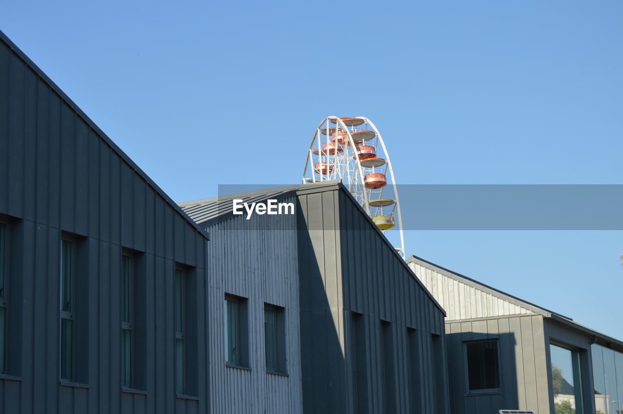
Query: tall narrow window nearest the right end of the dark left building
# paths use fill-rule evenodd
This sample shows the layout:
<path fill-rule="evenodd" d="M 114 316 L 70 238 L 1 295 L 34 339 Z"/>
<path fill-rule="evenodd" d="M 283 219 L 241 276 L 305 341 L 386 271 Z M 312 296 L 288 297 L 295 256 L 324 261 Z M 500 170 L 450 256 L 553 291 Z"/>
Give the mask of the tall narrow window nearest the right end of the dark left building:
<path fill-rule="evenodd" d="M 186 392 L 186 283 L 184 273 L 175 270 L 175 364 L 176 389 Z"/>

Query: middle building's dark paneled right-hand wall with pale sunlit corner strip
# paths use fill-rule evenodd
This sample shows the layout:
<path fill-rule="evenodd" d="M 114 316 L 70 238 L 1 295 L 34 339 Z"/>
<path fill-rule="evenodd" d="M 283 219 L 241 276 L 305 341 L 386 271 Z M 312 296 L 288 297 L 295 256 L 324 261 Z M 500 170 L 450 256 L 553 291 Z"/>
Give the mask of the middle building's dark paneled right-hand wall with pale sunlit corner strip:
<path fill-rule="evenodd" d="M 446 413 L 445 357 L 442 404 L 435 406 L 432 334 L 445 346 L 444 314 L 411 272 L 342 191 L 300 195 L 303 392 L 305 412 L 354 412 L 351 312 L 363 314 L 366 398 L 369 412 L 383 412 L 381 320 L 391 322 L 398 412 Z M 338 229 L 338 231 L 335 231 Z M 305 296 L 303 295 L 305 293 Z M 410 407 L 407 327 L 417 332 L 421 399 Z M 444 349 L 440 352 L 445 355 Z M 437 370 L 438 371 L 438 370 Z"/>

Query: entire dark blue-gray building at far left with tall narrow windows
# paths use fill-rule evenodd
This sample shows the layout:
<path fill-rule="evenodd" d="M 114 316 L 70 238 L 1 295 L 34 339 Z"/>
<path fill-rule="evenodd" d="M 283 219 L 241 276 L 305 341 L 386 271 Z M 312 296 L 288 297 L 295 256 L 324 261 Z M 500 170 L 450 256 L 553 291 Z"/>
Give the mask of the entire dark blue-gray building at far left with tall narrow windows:
<path fill-rule="evenodd" d="M 0 171 L 0 412 L 206 412 L 207 233 L 1 32 Z"/>

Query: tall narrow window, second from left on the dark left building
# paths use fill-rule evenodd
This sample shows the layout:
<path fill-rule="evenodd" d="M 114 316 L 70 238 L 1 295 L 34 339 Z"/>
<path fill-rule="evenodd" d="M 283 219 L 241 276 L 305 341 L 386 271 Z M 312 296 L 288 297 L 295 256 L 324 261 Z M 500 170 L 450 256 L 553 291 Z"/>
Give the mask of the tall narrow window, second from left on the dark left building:
<path fill-rule="evenodd" d="M 60 247 L 60 378 L 74 380 L 74 243 Z"/>

